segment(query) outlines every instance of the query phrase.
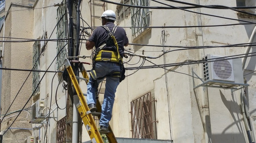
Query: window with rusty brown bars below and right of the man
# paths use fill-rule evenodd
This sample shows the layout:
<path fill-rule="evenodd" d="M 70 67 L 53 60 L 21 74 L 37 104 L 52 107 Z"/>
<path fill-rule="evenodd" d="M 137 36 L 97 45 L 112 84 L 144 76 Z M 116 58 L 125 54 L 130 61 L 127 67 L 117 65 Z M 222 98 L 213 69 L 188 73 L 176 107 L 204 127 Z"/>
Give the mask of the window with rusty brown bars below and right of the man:
<path fill-rule="evenodd" d="M 133 138 L 157 139 L 154 101 L 148 92 L 131 102 Z"/>

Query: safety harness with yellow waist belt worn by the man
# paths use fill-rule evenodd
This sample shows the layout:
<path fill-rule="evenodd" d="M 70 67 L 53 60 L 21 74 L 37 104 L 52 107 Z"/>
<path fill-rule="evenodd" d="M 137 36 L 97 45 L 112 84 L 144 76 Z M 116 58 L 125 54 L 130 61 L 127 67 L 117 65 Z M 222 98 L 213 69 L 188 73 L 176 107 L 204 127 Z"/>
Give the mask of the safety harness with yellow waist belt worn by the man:
<path fill-rule="evenodd" d="M 103 25 L 103 28 L 107 31 L 108 33 L 108 37 L 105 39 L 105 43 L 102 44 L 101 46 L 99 46 L 96 49 L 96 52 L 94 54 L 94 58 L 93 58 L 93 68 L 90 72 L 90 76 L 94 79 L 94 80 L 101 80 L 107 76 L 112 76 L 112 77 L 120 77 L 121 78 L 121 73 L 123 70 L 123 61 L 122 58 L 120 56 L 119 50 L 118 50 L 118 44 L 117 41 L 114 37 L 114 33 L 117 29 L 117 26 L 115 25 L 113 27 L 113 30 L 110 31 L 109 28 L 105 25 Z M 113 47 L 113 49 L 115 49 L 115 51 L 111 51 L 111 50 L 104 50 L 104 48 L 107 46 L 111 46 Z M 95 62 L 96 61 L 109 61 L 109 62 L 115 62 L 115 63 L 119 63 L 120 64 L 120 68 L 121 68 L 121 72 L 120 71 L 113 71 L 112 73 L 102 76 L 102 77 L 98 77 L 96 75 L 95 72 Z M 97 82 L 96 82 L 97 83 Z"/>

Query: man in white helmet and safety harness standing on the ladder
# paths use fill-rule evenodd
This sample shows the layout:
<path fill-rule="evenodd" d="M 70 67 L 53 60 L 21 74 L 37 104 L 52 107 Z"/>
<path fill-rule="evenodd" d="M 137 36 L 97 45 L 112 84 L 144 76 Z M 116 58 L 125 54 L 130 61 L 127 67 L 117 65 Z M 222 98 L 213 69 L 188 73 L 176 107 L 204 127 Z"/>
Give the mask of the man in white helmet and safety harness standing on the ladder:
<path fill-rule="evenodd" d="M 91 112 L 97 110 L 98 85 L 106 78 L 105 94 L 99 120 L 100 131 L 106 132 L 112 117 L 116 88 L 123 79 L 123 76 L 121 76 L 124 73 L 122 58 L 124 56 L 124 46 L 128 46 L 128 38 L 125 30 L 114 24 L 116 15 L 112 10 L 106 10 L 102 14 L 101 20 L 103 26 L 96 28 L 86 42 L 87 50 L 96 47 L 93 68 L 87 85 L 87 104 Z"/>

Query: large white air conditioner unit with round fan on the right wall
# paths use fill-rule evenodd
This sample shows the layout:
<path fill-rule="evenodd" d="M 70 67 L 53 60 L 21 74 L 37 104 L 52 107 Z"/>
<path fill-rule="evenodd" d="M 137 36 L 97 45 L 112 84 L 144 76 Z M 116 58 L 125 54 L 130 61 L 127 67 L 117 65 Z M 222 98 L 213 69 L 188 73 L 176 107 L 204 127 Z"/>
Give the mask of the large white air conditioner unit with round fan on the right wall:
<path fill-rule="evenodd" d="M 213 54 L 207 54 L 203 57 L 203 60 L 206 61 L 203 62 L 204 82 L 208 85 L 227 87 L 236 87 L 243 84 L 241 59 L 226 60 L 224 57 Z"/>

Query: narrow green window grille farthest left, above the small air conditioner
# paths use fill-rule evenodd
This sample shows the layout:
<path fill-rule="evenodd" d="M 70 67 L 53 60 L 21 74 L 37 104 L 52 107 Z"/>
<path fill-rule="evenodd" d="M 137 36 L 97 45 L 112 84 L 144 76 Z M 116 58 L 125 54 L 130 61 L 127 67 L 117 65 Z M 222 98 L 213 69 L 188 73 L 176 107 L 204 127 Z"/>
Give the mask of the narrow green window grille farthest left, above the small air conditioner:
<path fill-rule="evenodd" d="M 33 70 L 40 69 L 40 41 L 36 41 L 33 45 Z M 40 72 L 33 71 L 33 88 L 32 91 L 36 90 L 35 93 L 40 91 L 40 86 L 38 86 L 40 80 Z M 37 88 L 38 86 L 38 88 Z"/>

